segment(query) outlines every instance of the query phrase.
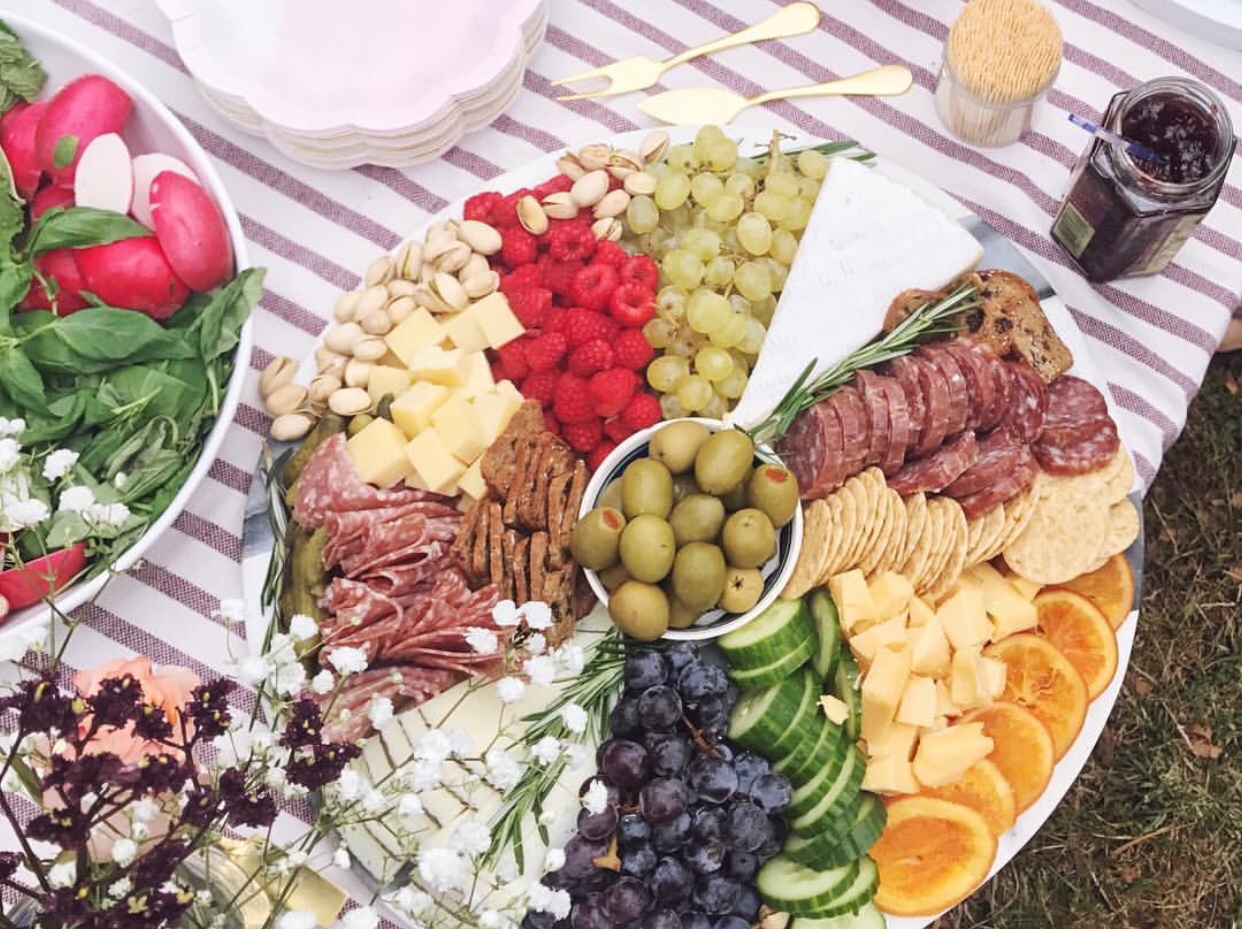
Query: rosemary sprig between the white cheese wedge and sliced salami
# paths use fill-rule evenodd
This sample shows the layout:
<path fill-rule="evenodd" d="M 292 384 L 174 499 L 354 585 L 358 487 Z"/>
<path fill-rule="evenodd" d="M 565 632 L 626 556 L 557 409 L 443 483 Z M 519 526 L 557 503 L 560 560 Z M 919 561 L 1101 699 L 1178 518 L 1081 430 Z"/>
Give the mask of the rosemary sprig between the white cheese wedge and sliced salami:
<path fill-rule="evenodd" d="M 974 284 L 963 284 L 935 303 L 924 303 L 891 332 L 851 351 L 815 380 L 811 380 L 811 373 L 820 359 L 812 358 L 768 419 L 746 432 L 755 445 L 777 442 L 789 432 L 790 425 L 802 410 L 815 406 L 848 384 L 859 368 L 869 368 L 907 355 L 929 335 L 955 332 L 956 327 L 950 324 L 949 319 L 976 306 L 979 306 L 979 293 Z"/>

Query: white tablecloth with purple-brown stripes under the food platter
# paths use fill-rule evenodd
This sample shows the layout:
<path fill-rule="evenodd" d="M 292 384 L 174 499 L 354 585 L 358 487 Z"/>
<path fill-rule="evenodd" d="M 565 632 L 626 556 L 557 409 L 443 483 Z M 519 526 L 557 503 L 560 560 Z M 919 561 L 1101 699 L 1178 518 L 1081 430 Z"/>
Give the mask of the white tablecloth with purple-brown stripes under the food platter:
<path fill-rule="evenodd" d="M 258 0 L 261 1 L 261 0 Z M 501 2 L 502 0 L 497 0 Z M 748 125 L 850 137 L 941 185 L 1011 237 L 1064 297 L 1107 374 L 1120 427 L 1145 484 L 1177 437 L 1242 287 L 1242 171 L 1235 165 L 1207 221 L 1156 278 L 1092 286 L 1048 237 L 1087 137 L 1066 113 L 1098 119 L 1119 89 L 1163 75 L 1213 87 L 1242 128 L 1242 53 L 1207 43 L 1124 0 L 1051 0 L 1066 61 L 1033 130 L 1018 144 L 954 140 L 932 102 L 941 47 L 960 0 L 832 0 L 820 30 L 737 48 L 666 76 L 664 88 L 725 84 L 746 94 L 905 62 L 910 93 L 895 99 L 807 99 L 744 116 Z M 512 109 L 432 164 L 397 171 L 303 168 L 219 118 L 199 97 L 152 0 L 0 0 L 84 41 L 153 88 L 219 160 L 256 263 L 270 268 L 256 320 L 251 384 L 210 477 L 152 551 L 86 607 L 75 664 L 144 652 L 204 676 L 225 672 L 217 607 L 241 596 L 242 505 L 267 426 L 255 381 L 273 354 L 304 356 L 337 294 L 381 250 L 448 201 L 543 152 L 606 139 L 648 123 L 636 96 L 559 103 L 550 81 L 632 55 L 662 58 L 754 22 L 770 0 L 550 0 L 546 41 Z"/>

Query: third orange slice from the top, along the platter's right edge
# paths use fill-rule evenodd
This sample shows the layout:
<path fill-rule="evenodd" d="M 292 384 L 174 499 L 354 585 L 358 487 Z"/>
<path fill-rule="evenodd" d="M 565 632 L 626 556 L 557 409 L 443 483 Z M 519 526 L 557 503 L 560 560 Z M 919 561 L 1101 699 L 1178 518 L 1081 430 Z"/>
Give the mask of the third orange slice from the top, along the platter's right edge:
<path fill-rule="evenodd" d="M 1000 699 L 1026 707 L 1052 736 L 1059 761 L 1087 719 L 1087 684 L 1061 651 L 1042 636 L 1022 632 L 987 646 L 984 655 L 1005 662 Z"/>

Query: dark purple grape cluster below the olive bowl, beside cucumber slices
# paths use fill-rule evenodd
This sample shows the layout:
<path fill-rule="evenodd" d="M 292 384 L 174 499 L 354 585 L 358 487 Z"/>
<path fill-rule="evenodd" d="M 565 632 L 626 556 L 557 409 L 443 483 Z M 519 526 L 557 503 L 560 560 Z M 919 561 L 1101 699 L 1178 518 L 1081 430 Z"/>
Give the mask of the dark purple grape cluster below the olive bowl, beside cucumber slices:
<path fill-rule="evenodd" d="M 791 787 L 763 758 L 727 741 L 738 699 L 714 647 L 631 651 L 625 691 L 599 749 L 601 812 L 582 810 L 551 887 L 573 908 L 524 929 L 749 929 L 759 866 L 785 841 Z"/>

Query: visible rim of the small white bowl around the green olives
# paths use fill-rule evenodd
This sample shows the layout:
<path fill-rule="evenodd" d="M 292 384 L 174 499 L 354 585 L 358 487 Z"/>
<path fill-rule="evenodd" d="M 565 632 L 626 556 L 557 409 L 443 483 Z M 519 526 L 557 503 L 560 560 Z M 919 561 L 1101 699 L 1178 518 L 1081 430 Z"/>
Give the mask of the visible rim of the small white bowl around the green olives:
<path fill-rule="evenodd" d="M 713 432 L 718 432 L 722 428 L 732 428 L 725 426 L 720 420 L 708 420 L 700 417 L 687 417 L 689 422 L 702 422 Z M 681 422 L 682 420 L 672 420 L 666 422 L 657 422 L 655 426 L 650 426 L 645 430 L 635 432 L 632 436 L 621 442 L 612 453 L 609 455 L 591 476 L 590 482 L 586 484 L 586 491 L 582 493 L 582 505 L 579 509 L 579 517 L 585 515 L 590 510 L 599 505 L 600 497 L 604 496 L 604 491 L 607 489 L 609 484 L 621 477 L 621 472 L 626 469 L 630 462 L 637 461 L 638 458 L 647 457 L 647 447 L 651 445 L 651 437 L 656 435 L 664 426 L 671 425 L 671 422 Z M 766 458 L 773 461 L 776 456 L 771 453 L 771 450 L 763 450 Z M 776 532 L 776 554 L 768 560 L 768 563 L 760 569 L 764 575 L 764 592 L 760 595 L 759 601 L 745 612 L 727 612 L 720 609 L 708 610 L 698 621 L 689 628 L 671 628 L 664 633 L 664 638 L 686 638 L 686 640 L 704 640 L 715 638 L 717 636 L 723 636 L 725 632 L 730 632 L 740 626 L 745 626 L 750 620 L 761 614 L 773 601 L 780 596 L 780 592 L 785 589 L 785 584 L 789 581 L 789 576 L 794 573 L 794 566 L 797 564 L 797 553 L 802 548 L 802 508 L 799 507 L 794 512 L 794 519 L 782 525 Z M 586 582 L 591 585 L 591 590 L 595 591 L 595 596 L 600 599 L 604 606 L 609 605 L 609 591 L 605 590 L 604 584 L 600 581 L 600 576 L 596 571 L 589 571 L 584 569 L 586 575 Z"/>

